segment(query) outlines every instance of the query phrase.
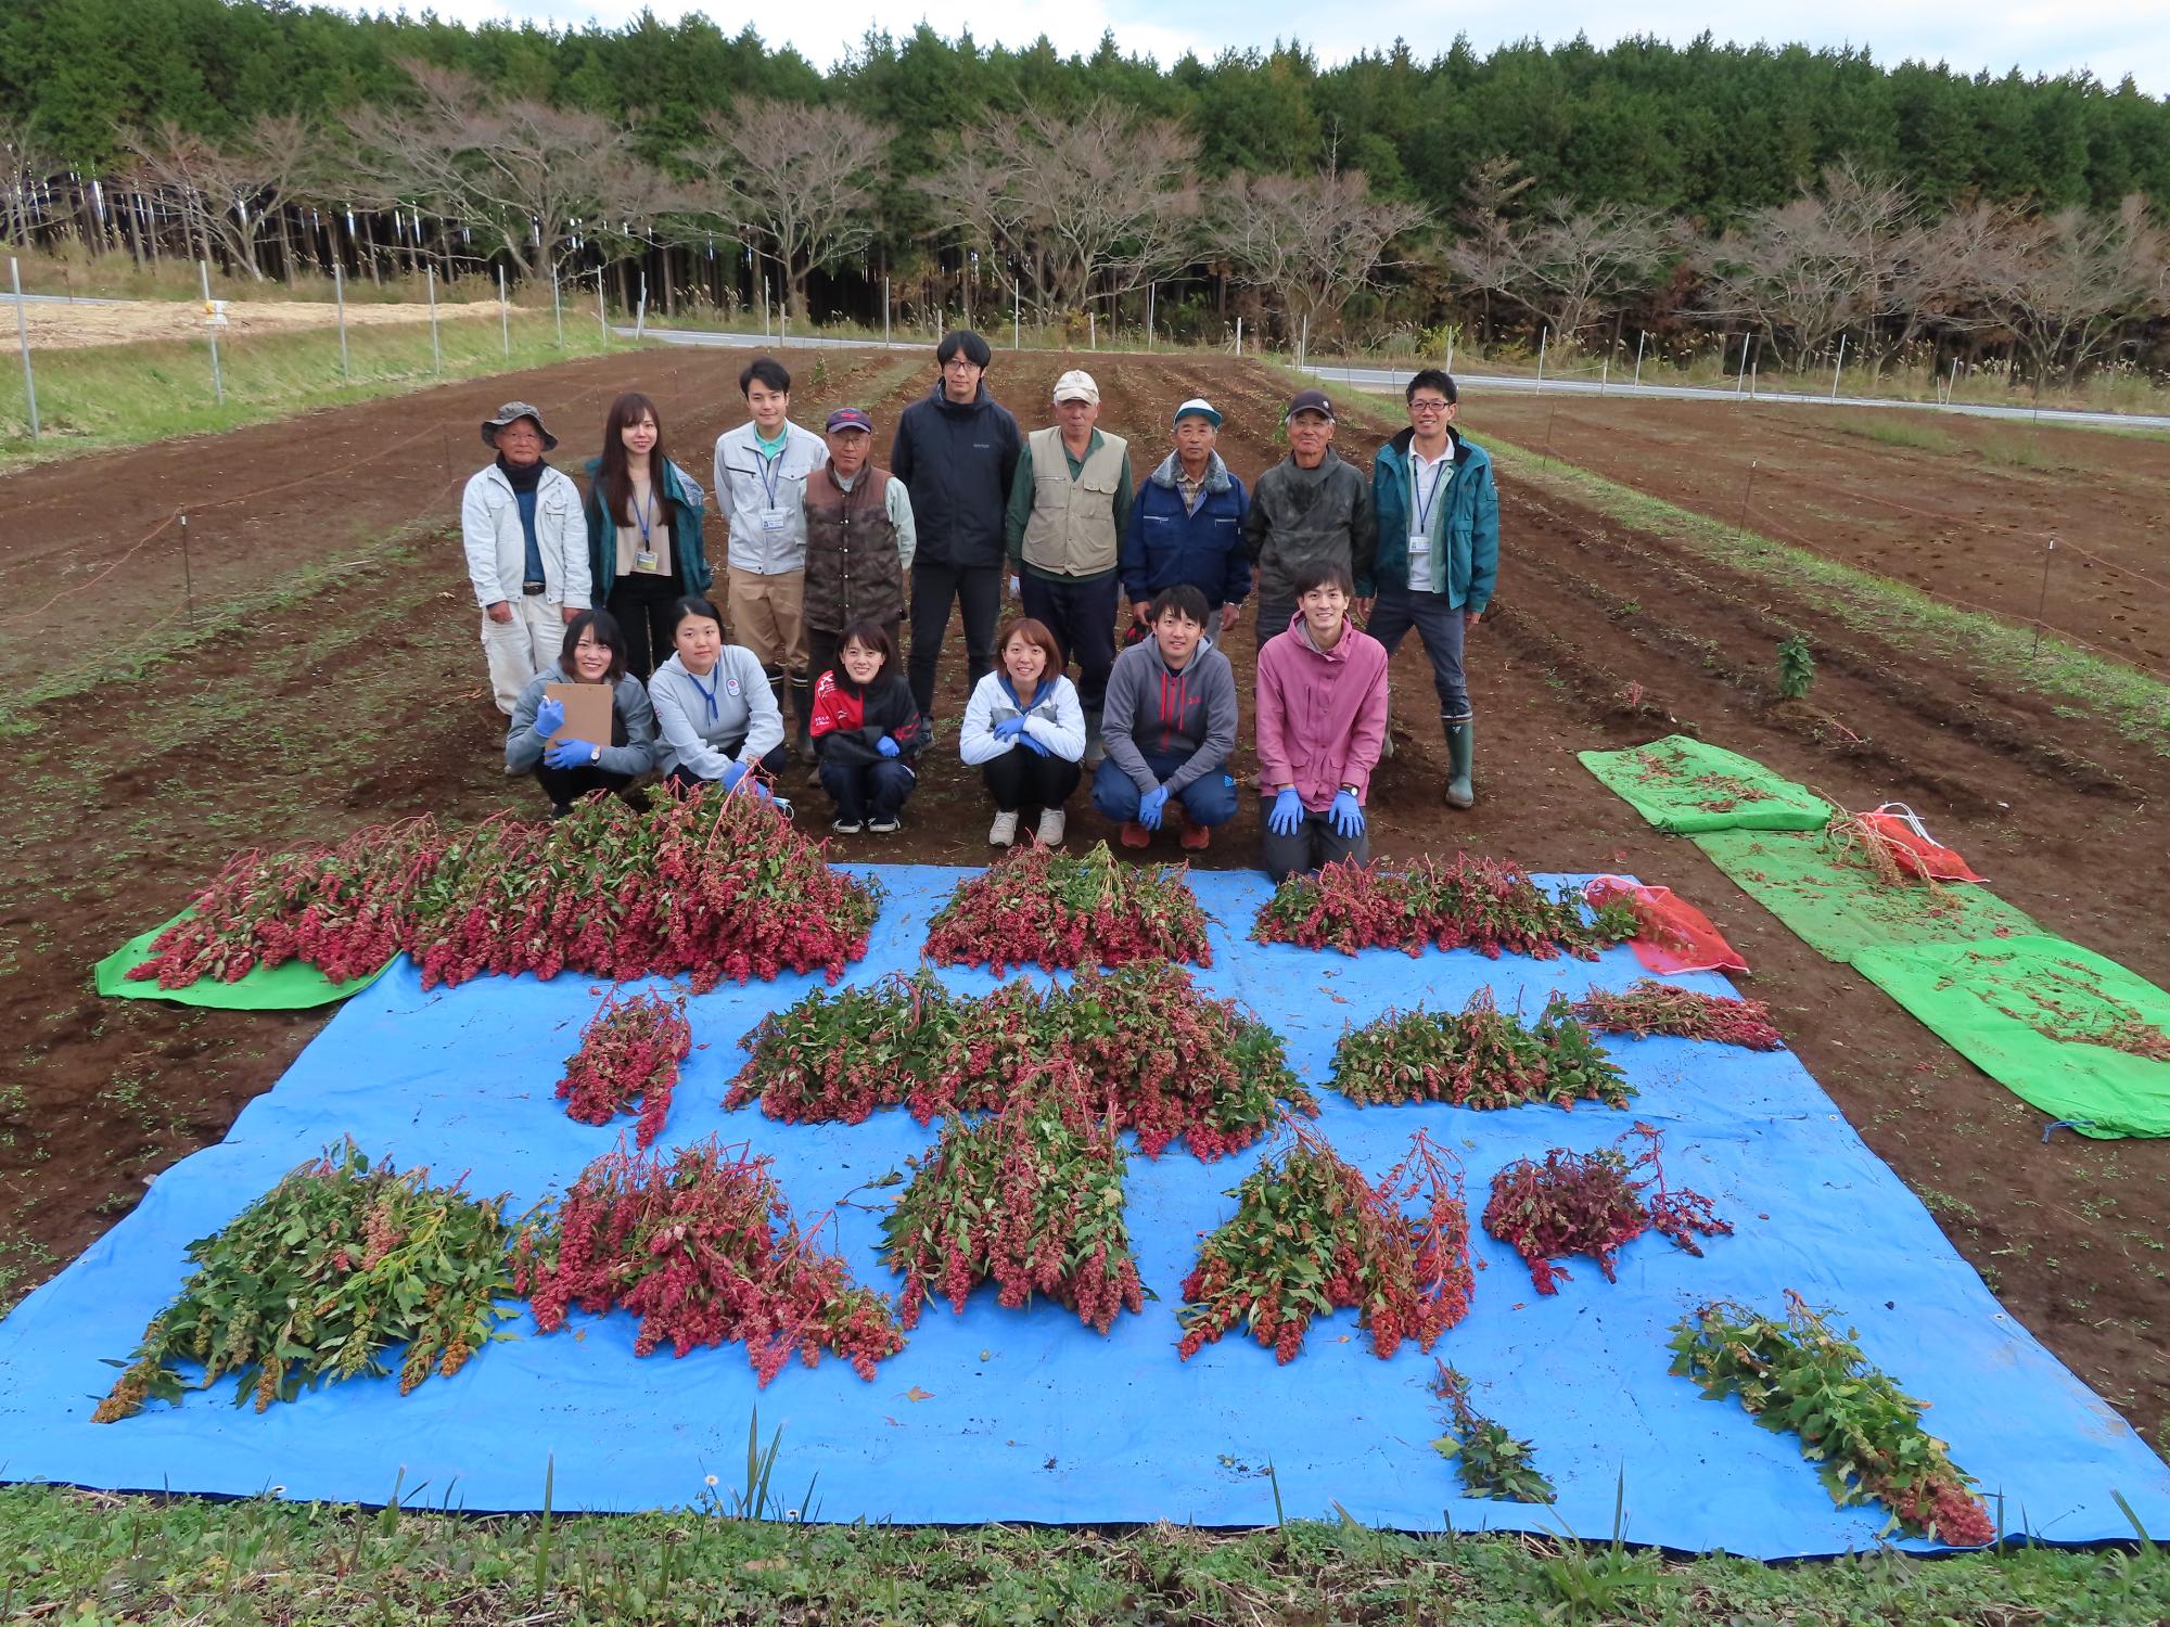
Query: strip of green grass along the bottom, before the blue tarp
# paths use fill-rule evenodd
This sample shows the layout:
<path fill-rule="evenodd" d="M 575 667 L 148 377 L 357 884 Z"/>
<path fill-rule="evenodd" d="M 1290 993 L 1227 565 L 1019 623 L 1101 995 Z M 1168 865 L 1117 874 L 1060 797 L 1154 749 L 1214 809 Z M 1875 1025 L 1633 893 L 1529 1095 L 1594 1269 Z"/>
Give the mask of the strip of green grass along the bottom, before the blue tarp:
<path fill-rule="evenodd" d="M 564 1493 L 564 1488 L 558 1488 Z M 0 1493 L 0 1614 L 69 1623 L 2150 1623 L 2153 1547 L 1953 1560 L 1664 1560 L 1352 1521 L 1207 1534 L 796 1525 L 718 1512 L 462 1519 L 456 1486 L 399 1503 Z M 560 1495 L 556 1501 L 571 1501 Z M 712 1510 L 727 1508 L 710 1493 Z M 1593 1599 L 1634 1562 L 1625 1616 Z M 1604 1584 L 1604 1586 L 1597 1586 Z M 59 1612 L 76 1612 L 61 1616 Z"/>

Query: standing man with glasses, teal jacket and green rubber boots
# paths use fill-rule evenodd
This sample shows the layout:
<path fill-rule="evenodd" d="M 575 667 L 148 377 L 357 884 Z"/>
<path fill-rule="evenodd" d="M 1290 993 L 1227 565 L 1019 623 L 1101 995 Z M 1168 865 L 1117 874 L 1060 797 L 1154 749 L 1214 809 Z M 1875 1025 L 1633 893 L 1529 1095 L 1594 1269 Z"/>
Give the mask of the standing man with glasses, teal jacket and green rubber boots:
<path fill-rule="evenodd" d="M 1393 655 L 1408 629 L 1417 629 L 1447 733 L 1447 807 L 1471 807 L 1476 720 L 1463 638 L 1484 618 L 1499 575 L 1499 492 L 1491 458 L 1454 427 L 1454 380 L 1428 367 L 1404 395 L 1408 427 L 1371 462 L 1378 605 L 1365 631 Z"/>

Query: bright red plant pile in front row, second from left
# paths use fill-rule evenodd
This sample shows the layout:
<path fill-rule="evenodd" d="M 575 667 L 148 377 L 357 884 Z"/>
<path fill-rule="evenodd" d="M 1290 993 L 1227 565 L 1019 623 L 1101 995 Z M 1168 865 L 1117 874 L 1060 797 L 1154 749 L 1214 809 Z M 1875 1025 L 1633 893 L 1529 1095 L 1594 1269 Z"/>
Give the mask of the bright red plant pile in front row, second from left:
<path fill-rule="evenodd" d="M 634 1356 L 738 1343 L 766 1386 L 792 1351 L 807 1367 L 833 1351 L 872 1380 L 905 1347 L 896 1310 L 799 1228 L 768 1165 L 714 1137 L 590 1163 L 512 1250 L 536 1328 L 556 1332 L 573 1306 L 631 1310 Z"/>

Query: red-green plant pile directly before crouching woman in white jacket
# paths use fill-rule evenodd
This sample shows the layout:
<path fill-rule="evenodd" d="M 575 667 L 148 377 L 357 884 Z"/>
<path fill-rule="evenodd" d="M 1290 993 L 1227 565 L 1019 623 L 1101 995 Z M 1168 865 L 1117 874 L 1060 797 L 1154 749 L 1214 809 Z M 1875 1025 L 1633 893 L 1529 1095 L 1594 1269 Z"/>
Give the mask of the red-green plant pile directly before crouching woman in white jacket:
<path fill-rule="evenodd" d="M 1180 868 L 1118 863 L 1107 842 L 1072 857 L 1037 842 L 961 881 L 929 922 L 924 955 L 937 965 L 1013 965 L 1050 972 L 1096 961 L 1213 965 L 1207 913 Z"/>

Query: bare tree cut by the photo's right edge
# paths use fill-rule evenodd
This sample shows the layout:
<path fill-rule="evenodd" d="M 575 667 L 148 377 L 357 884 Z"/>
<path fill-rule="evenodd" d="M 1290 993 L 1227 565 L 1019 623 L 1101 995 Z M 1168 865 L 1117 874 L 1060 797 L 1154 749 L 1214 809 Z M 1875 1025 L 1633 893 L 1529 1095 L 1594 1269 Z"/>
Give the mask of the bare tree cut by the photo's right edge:
<path fill-rule="evenodd" d="M 2159 312 L 2163 260 L 2163 234 L 2142 197 L 2127 197 L 2116 215 L 2007 213 L 1986 256 L 1983 297 L 2012 328 L 2040 390 L 2059 362 L 2077 375 L 2120 325 Z"/>

